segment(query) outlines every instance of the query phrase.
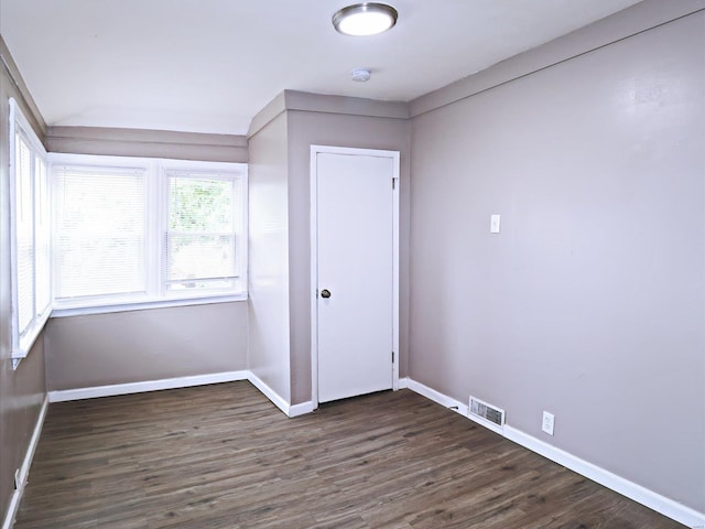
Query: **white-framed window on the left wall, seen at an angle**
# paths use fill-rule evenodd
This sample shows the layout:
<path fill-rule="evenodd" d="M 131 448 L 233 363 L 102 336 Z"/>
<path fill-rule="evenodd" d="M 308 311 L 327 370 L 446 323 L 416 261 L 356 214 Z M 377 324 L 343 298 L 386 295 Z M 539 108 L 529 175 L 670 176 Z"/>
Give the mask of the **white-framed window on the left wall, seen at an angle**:
<path fill-rule="evenodd" d="M 51 312 L 46 151 L 10 99 L 12 359 L 32 348 Z"/>

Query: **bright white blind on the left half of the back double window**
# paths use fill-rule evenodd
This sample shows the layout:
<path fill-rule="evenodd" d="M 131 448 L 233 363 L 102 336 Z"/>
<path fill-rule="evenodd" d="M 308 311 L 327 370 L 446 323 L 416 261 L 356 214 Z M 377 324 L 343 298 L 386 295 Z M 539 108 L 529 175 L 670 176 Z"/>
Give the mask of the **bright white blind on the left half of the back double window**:
<path fill-rule="evenodd" d="M 54 168 L 55 299 L 147 294 L 144 168 Z"/>

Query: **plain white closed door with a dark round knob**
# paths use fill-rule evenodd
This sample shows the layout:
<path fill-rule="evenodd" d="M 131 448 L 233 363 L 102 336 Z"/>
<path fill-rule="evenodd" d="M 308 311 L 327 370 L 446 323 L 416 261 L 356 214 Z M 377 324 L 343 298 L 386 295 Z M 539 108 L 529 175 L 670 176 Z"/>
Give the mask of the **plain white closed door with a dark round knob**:
<path fill-rule="evenodd" d="M 317 149 L 313 364 L 327 402 L 395 387 L 399 153 Z"/>

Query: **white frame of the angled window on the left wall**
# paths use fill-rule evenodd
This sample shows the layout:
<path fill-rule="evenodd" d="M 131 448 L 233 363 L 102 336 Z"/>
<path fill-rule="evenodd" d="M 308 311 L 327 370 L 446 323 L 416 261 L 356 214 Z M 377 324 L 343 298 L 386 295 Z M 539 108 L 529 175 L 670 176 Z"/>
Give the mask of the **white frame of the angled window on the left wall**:
<path fill-rule="evenodd" d="M 30 125 L 29 120 L 24 116 L 22 108 L 18 105 L 14 98 L 9 98 L 8 104 L 10 107 L 9 112 L 9 175 L 10 175 L 10 273 L 12 283 L 12 300 L 11 300 L 11 359 L 12 367 L 18 368 L 20 361 L 26 358 L 30 350 L 34 346 L 36 338 L 40 336 L 46 322 L 52 315 L 52 274 L 51 274 L 51 222 L 41 223 L 40 218 L 46 219 L 47 215 L 51 218 L 51 187 L 48 185 L 48 161 L 47 153 L 44 145 L 40 141 L 39 137 L 34 132 L 34 129 Z M 20 261 L 19 261 L 19 242 L 18 242 L 18 160 L 17 160 L 17 138 L 21 137 L 22 141 L 26 143 L 30 149 L 30 204 L 32 208 L 31 215 L 31 240 L 32 240 L 32 317 L 24 328 L 20 328 Z M 41 179 L 44 179 L 44 202 L 39 196 L 39 191 L 42 188 Z M 44 226 L 47 233 L 43 234 L 41 227 Z M 40 283 L 42 279 L 37 273 L 39 259 L 41 252 L 37 251 L 37 241 L 41 236 L 44 236 L 44 242 L 48 245 L 46 248 L 48 259 L 48 267 L 46 268 L 47 276 L 43 278 L 44 284 L 48 288 L 48 292 L 42 292 L 43 298 L 40 295 Z M 43 306 L 37 306 L 37 300 L 45 299 L 48 303 Z"/>

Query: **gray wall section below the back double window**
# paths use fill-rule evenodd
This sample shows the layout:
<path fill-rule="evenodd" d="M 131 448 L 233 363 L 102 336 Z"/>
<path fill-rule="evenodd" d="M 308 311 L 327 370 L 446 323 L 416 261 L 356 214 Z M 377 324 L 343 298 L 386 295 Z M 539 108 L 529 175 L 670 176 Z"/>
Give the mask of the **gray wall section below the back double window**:
<path fill-rule="evenodd" d="M 247 369 L 247 303 L 50 320 L 48 390 Z"/>

